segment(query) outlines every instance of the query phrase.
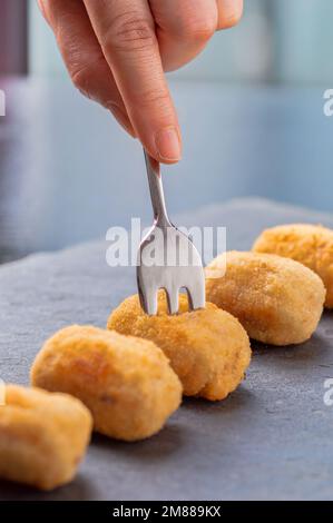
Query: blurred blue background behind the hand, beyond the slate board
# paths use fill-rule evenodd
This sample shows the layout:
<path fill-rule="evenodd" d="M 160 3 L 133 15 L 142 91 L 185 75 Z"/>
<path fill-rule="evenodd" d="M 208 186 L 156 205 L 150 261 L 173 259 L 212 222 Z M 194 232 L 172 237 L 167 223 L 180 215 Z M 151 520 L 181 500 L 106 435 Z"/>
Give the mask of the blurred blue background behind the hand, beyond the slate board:
<path fill-rule="evenodd" d="M 184 140 L 183 160 L 164 168 L 175 219 L 239 197 L 333 210 L 333 2 L 244 6 L 239 26 L 168 75 Z M 0 10 L 0 260 L 149 223 L 140 145 L 71 86 L 33 0 Z"/>

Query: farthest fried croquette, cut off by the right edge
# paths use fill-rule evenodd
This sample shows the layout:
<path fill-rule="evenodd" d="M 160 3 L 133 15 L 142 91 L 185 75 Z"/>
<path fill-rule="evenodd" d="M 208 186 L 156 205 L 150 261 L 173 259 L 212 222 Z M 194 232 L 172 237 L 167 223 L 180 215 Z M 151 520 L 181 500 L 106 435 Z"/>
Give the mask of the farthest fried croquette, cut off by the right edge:
<path fill-rule="evenodd" d="M 281 225 L 264 230 L 252 250 L 295 259 L 314 270 L 326 287 L 325 306 L 333 308 L 333 230 L 320 225 Z"/>

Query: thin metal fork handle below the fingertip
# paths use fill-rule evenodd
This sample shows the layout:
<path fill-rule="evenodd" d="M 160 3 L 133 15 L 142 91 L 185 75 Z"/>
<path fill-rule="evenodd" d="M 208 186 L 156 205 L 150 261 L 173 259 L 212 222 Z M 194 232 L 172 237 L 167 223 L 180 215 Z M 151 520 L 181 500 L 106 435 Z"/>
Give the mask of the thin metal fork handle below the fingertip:
<path fill-rule="evenodd" d="M 151 158 L 146 150 L 144 150 L 144 152 L 155 223 L 159 227 L 170 226 L 165 206 L 159 162 Z"/>

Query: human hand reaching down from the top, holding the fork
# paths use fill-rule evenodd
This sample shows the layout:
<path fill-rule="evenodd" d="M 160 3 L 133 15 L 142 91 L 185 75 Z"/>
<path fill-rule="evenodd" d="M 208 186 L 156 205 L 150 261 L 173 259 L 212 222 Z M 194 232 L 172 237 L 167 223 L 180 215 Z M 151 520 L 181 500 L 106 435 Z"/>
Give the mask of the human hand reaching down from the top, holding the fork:
<path fill-rule="evenodd" d="M 75 86 L 109 109 L 158 161 L 182 156 L 164 71 L 236 24 L 243 0 L 38 0 Z"/>

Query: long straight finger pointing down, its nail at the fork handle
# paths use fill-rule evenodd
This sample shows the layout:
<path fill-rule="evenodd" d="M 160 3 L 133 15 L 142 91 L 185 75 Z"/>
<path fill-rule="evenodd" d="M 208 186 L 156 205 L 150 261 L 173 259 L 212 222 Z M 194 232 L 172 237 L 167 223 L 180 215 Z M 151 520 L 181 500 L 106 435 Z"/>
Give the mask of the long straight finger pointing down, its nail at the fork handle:
<path fill-rule="evenodd" d="M 157 160 L 180 159 L 180 135 L 146 0 L 84 0 L 127 114 Z"/>

